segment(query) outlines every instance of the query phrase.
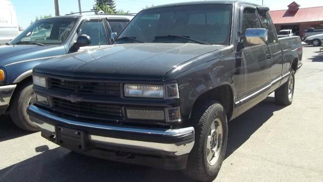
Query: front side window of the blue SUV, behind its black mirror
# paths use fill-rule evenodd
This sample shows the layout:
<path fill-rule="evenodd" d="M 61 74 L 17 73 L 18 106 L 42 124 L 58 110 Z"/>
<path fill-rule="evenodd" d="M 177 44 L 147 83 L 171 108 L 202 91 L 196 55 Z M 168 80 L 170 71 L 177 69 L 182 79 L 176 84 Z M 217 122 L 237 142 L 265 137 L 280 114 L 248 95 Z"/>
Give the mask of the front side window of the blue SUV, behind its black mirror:
<path fill-rule="evenodd" d="M 106 32 L 102 20 L 90 20 L 84 22 L 79 31 L 79 35 L 83 34 L 90 36 L 90 46 L 107 44 Z"/>

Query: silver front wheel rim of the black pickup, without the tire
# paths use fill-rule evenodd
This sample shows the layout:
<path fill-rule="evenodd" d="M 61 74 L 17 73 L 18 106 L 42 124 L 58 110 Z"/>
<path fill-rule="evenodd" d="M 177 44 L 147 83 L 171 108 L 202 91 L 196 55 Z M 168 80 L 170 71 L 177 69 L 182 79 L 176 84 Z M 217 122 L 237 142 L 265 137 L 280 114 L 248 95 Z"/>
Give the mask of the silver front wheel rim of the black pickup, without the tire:
<path fill-rule="evenodd" d="M 210 126 L 206 141 L 206 160 L 209 165 L 214 165 L 219 159 L 223 143 L 223 127 L 219 118 L 215 119 Z"/>

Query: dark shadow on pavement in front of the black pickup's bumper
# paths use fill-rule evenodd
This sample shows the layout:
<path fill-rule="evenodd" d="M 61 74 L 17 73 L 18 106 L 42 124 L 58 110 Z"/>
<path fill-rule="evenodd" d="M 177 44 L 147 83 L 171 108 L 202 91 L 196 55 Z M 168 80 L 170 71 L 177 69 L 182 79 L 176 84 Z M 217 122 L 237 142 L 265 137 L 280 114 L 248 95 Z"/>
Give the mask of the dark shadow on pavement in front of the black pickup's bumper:
<path fill-rule="evenodd" d="M 180 171 L 83 156 L 59 147 L 0 170 L 0 181 L 190 181 Z"/>

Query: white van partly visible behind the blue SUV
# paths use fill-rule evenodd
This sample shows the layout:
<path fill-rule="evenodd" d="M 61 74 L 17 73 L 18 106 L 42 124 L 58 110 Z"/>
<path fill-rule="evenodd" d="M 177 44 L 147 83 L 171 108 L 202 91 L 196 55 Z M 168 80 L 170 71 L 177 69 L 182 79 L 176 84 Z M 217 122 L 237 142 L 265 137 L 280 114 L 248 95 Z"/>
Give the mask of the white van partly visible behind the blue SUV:
<path fill-rule="evenodd" d="M 19 34 L 16 11 L 9 0 L 0 0 L 0 45 Z"/>

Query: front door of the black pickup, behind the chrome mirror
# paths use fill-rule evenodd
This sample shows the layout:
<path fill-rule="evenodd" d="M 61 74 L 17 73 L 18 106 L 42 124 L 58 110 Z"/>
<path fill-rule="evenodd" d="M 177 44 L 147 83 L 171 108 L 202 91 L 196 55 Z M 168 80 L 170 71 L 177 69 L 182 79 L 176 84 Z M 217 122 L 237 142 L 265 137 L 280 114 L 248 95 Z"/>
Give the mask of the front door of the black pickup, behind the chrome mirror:
<path fill-rule="evenodd" d="M 247 28 L 261 28 L 256 9 L 245 8 L 243 10 L 241 27 L 242 35 Z M 241 56 L 244 71 L 244 85 L 239 86 L 240 98 L 251 96 L 257 90 L 267 88 L 271 82 L 270 68 L 272 66 L 271 61 L 268 61 L 270 53 L 267 44 L 248 45 L 246 41 L 243 41 L 242 49 L 237 54 Z"/>

